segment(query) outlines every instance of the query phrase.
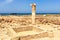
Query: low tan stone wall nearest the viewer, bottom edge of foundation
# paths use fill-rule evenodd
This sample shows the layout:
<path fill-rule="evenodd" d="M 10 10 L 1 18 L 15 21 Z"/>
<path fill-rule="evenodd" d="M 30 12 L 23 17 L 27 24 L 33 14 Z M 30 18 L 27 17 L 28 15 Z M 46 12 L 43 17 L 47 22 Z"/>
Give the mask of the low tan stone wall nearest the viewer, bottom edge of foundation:
<path fill-rule="evenodd" d="M 48 37 L 48 32 L 20 37 L 20 40 L 31 40 L 35 38 L 44 38 L 44 37 Z"/>

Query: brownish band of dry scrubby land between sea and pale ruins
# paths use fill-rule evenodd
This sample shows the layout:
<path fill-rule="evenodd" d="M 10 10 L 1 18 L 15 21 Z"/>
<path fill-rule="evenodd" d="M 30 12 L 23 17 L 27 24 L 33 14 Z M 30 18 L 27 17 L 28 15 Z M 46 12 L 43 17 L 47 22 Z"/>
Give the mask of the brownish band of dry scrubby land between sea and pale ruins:
<path fill-rule="evenodd" d="M 20 25 L 31 24 L 31 16 L 0 16 L 0 23 L 17 23 Z M 57 15 L 38 15 L 36 16 L 36 24 L 52 23 L 60 25 L 60 16 Z"/>

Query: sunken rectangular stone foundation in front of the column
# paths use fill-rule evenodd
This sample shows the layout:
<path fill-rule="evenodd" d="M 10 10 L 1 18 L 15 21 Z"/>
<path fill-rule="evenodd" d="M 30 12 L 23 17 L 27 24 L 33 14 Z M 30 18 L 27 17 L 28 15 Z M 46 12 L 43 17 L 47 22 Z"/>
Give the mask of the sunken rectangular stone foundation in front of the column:
<path fill-rule="evenodd" d="M 17 33 L 17 36 L 11 40 L 32 40 L 35 38 L 49 37 L 48 32 L 44 32 L 44 30 L 33 26 L 13 28 L 13 30 Z"/>

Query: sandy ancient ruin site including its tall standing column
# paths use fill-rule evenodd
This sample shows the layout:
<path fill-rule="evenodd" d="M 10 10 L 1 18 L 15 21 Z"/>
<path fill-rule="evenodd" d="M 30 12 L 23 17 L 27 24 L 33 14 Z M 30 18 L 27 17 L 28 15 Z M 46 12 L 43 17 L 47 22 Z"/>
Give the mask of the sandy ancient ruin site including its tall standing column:
<path fill-rule="evenodd" d="M 0 40 L 59 40 L 60 16 L 35 15 L 36 4 L 32 4 L 32 16 L 0 16 Z"/>

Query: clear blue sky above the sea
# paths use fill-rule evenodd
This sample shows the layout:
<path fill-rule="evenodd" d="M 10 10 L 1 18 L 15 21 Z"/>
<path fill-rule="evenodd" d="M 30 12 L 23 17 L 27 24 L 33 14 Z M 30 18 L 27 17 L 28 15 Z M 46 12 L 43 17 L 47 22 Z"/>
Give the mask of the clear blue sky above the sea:
<path fill-rule="evenodd" d="M 0 0 L 0 13 L 31 13 L 32 3 L 36 13 L 60 13 L 60 0 Z"/>

